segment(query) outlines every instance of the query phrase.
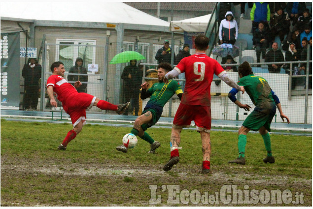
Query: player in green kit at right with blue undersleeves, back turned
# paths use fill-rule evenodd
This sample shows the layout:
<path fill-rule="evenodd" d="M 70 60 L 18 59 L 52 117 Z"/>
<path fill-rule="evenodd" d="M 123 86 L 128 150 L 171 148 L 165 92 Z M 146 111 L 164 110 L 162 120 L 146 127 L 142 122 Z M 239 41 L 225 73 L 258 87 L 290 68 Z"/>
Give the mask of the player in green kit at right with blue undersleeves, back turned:
<path fill-rule="evenodd" d="M 263 159 L 263 162 L 274 163 L 275 158 L 272 156 L 271 138 L 268 131 L 271 131 L 271 122 L 276 114 L 276 106 L 282 121 L 284 121 L 285 118 L 289 123 L 289 119 L 282 113 L 278 96 L 271 89 L 268 82 L 260 76 L 254 76 L 248 62 L 245 61 L 239 66 L 238 74 L 240 77 L 238 85 L 244 87 L 244 90 L 249 95 L 251 101 L 255 105 L 255 108 L 244 120 L 243 125 L 238 131 L 239 157 L 235 160 L 228 161 L 228 163 L 245 164 L 244 149 L 246 144 L 246 135 L 250 130 L 259 131 L 262 135 L 264 145 L 267 150 L 267 156 Z M 237 92 L 238 90 L 232 89 L 228 93 L 228 97 L 240 108 L 250 111 L 249 109 L 251 107 L 249 105 L 242 104 L 236 99 L 235 95 Z"/>

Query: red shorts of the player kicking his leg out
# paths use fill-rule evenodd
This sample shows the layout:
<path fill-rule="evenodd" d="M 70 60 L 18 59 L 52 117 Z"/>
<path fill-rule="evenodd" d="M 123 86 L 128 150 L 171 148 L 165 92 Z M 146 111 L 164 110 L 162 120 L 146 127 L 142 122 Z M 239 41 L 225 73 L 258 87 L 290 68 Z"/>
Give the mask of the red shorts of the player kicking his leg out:
<path fill-rule="evenodd" d="M 81 120 L 84 120 L 83 125 L 86 123 L 86 109 L 94 105 L 96 98 L 88 93 L 78 93 L 62 104 L 65 112 L 70 115 L 73 127 Z"/>

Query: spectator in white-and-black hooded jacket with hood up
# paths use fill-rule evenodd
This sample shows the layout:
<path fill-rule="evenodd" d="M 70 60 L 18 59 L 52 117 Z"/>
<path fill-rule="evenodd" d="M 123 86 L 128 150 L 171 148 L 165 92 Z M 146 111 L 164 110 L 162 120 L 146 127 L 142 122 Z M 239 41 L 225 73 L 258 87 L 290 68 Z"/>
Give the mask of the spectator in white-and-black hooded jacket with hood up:
<path fill-rule="evenodd" d="M 238 37 L 238 26 L 232 12 L 226 12 L 225 19 L 219 26 L 218 36 L 220 44 L 235 44 Z"/>

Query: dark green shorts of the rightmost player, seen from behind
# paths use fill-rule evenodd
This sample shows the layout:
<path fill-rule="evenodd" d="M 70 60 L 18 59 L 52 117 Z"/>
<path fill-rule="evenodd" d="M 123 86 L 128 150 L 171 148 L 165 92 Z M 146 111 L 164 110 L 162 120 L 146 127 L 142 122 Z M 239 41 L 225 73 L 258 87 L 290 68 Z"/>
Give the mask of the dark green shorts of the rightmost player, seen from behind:
<path fill-rule="evenodd" d="M 252 113 L 244 120 L 243 126 L 253 131 L 258 131 L 262 126 L 271 131 L 271 122 L 276 114 L 276 106 L 266 111 L 259 111 L 255 108 Z"/>

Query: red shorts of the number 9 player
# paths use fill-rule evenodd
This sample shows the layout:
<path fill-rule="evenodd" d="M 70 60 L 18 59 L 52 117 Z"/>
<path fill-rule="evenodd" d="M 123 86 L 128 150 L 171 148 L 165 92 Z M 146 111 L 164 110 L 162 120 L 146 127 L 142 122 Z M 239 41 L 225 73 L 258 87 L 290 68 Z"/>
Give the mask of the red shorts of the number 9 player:
<path fill-rule="evenodd" d="M 195 121 L 200 129 L 211 129 L 211 107 L 200 105 L 179 104 L 173 121 L 174 128 L 189 127 Z"/>

